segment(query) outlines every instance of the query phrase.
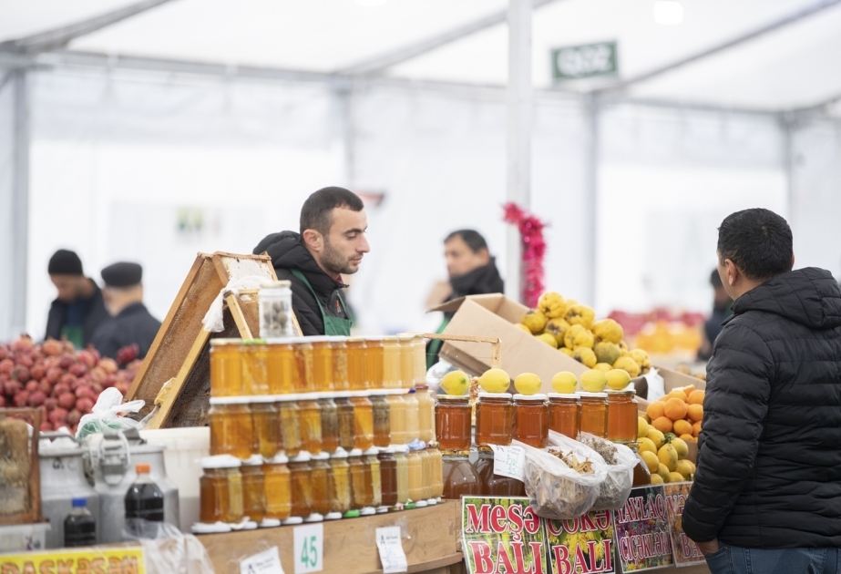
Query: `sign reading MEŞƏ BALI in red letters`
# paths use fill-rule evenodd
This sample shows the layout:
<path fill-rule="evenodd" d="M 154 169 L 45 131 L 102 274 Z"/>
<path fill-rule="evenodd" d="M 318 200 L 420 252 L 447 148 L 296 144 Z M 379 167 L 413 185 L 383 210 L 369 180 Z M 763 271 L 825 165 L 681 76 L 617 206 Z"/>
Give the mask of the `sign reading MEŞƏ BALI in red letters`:
<path fill-rule="evenodd" d="M 462 498 L 462 544 L 471 574 L 546 574 L 544 521 L 528 498 Z"/>

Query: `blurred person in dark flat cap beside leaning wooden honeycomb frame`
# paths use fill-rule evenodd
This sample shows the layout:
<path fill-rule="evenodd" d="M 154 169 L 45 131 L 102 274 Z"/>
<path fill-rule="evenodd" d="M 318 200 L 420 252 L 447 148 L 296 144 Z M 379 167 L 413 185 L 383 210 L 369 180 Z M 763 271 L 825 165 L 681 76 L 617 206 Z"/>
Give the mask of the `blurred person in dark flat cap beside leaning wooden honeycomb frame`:
<path fill-rule="evenodd" d="M 114 263 L 102 270 L 102 281 L 111 319 L 94 333 L 94 347 L 119 364 L 143 359 L 160 329 L 160 322 L 143 304 L 143 268 L 138 263 Z"/>

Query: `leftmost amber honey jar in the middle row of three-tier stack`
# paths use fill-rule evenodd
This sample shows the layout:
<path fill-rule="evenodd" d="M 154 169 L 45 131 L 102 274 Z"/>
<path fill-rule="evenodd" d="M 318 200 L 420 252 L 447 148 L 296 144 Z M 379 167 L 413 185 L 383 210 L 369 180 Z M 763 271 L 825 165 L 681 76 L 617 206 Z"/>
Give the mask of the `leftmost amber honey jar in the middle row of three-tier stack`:
<path fill-rule="evenodd" d="M 256 452 L 248 397 L 210 399 L 210 455 L 248 458 Z"/>

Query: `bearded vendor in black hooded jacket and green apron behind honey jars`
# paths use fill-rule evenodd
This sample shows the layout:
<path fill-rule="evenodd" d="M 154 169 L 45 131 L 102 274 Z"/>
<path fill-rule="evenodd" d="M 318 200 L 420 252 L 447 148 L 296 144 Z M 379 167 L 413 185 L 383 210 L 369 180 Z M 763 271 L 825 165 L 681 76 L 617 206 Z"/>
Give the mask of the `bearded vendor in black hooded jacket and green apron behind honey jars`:
<path fill-rule="evenodd" d="M 300 234 L 281 231 L 265 237 L 254 253 L 267 251 L 280 280 L 292 282 L 292 310 L 304 336 L 348 335 L 353 318 L 347 311 L 342 278 L 359 271 L 370 250 L 364 204 L 343 188 L 324 188 L 301 209 Z"/>

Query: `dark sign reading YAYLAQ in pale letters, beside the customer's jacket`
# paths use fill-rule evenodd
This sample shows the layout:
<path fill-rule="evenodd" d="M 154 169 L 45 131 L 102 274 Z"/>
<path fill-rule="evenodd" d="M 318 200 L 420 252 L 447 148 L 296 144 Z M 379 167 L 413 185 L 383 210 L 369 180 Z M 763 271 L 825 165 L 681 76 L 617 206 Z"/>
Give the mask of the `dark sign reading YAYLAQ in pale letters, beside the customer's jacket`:
<path fill-rule="evenodd" d="M 672 527 L 662 485 L 631 489 L 625 506 L 613 511 L 616 552 L 622 572 L 671 566 Z"/>

